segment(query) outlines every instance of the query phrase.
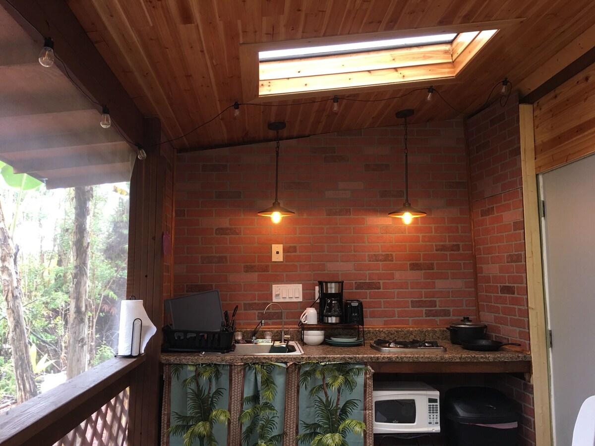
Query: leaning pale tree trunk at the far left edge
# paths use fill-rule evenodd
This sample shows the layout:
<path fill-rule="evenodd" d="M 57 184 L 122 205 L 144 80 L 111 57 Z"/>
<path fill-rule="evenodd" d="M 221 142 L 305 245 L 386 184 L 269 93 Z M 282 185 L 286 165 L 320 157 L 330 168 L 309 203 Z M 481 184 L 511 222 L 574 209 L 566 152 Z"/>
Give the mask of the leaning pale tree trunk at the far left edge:
<path fill-rule="evenodd" d="M 2 280 L 2 294 L 4 294 L 7 307 L 6 315 L 12 348 L 12 363 L 17 383 L 17 401 L 23 403 L 23 401 L 37 395 L 37 388 L 35 387 L 33 366 L 29 356 L 29 344 L 27 344 L 27 332 L 23 316 L 23 300 L 16 265 L 17 259 L 14 255 L 12 239 L 7 230 L 0 203 L 0 279 Z"/>

